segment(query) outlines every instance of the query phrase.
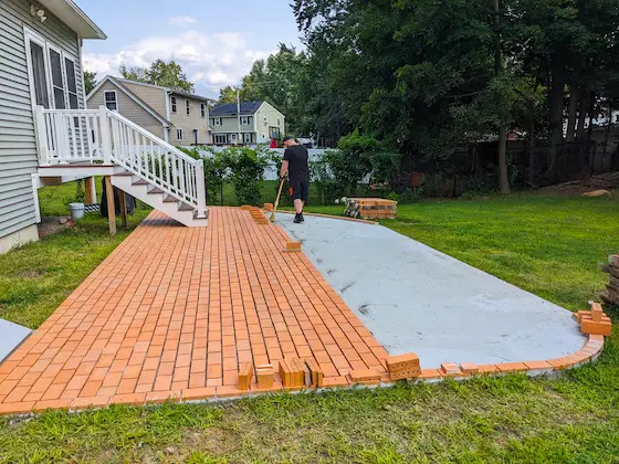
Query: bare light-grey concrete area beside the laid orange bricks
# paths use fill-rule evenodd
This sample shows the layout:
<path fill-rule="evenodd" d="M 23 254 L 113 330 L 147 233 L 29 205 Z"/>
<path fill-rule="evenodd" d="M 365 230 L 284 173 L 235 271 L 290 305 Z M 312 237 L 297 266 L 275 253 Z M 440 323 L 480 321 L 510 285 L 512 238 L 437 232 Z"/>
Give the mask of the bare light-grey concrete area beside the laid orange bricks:
<path fill-rule="evenodd" d="M 586 339 L 571 313 L 381 225 L 277 214 L 391 355 L 424 368 L 558 358 Z"/>

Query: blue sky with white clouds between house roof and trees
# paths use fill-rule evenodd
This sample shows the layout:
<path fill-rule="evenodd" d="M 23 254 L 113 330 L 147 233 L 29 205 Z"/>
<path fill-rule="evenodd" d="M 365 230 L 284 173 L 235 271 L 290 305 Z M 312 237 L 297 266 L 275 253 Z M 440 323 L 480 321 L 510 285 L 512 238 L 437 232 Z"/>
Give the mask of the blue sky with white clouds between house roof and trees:
<path fill-rule="evenodd" d="M 196 93 L 218 97 L 280 42 L 302 48 L 291 0 L 77 0 L 107 40 L 85 40 L 84 68 L 119 75 L 118 66 L 175 60 Z"/>

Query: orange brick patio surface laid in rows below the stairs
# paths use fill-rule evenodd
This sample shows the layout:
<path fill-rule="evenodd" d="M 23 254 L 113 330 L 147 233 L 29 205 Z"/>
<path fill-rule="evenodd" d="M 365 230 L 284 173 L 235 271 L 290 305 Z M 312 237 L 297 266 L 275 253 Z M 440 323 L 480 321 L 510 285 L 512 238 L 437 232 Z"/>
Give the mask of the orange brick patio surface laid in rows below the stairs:
<path fill-rule="evenodd" d="M 282 229 L 210 213 L 190 229 L 153 212 L 0 365 L 0 413 L 246 394 L 240 362 L 291 356 L 314 358 L 325 386 L 386 371 L 387 351 L 303 253 L 283 251 Z"/>

